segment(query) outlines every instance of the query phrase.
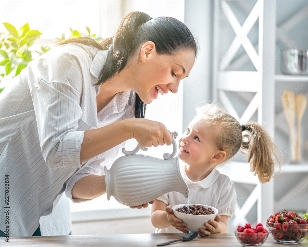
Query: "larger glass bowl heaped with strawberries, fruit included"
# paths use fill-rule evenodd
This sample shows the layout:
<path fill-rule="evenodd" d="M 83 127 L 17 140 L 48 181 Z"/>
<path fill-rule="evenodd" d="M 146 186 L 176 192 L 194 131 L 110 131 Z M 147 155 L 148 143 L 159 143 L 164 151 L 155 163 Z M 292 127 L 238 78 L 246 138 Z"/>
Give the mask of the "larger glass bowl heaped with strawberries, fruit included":
<path fill-rule="evenodd" d="M 276 212 L 266 220 L 266 227 L 273 238 L 282 244 L 299 244 L 308 235 L 308 219 L 294 211 Z"/>

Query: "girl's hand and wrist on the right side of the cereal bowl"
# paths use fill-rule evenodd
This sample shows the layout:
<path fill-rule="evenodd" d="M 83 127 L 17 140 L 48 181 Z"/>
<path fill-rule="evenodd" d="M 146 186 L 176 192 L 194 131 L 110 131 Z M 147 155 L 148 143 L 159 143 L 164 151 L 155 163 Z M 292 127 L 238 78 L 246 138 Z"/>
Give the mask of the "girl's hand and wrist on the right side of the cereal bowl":
<path fill-rule="evenodd" d="M 201 237 L 212 233 L 225 233 L 227 232 L 228 216 L 217 214 L 214 220 L 209 220 L 209 223 L 205 223 L 204 225 L 207 229 L 199 229 L 199 235 Z"/>

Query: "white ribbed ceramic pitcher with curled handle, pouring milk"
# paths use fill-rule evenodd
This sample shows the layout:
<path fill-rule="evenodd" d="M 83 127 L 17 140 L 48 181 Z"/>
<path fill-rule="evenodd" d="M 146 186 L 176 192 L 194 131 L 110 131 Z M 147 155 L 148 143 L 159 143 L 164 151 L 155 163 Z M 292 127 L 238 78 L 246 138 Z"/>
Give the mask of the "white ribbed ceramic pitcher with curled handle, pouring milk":
<path fill-rule="evenodd" d="M 164 159 L 136 154 L 139 149 L 148 150 L 140 144 L 133 151 L 115 160 L 108 170 L 105 166 L 107 198 L 111 196 L 127 206 L 137 206 L 153 201 L 171 191 L 177 191 L 188 197 L 188 186 L 180 173 L 179 159 L 176 154 L 175 138 L 172 132 L 173 152 L 165 153 Z"/>

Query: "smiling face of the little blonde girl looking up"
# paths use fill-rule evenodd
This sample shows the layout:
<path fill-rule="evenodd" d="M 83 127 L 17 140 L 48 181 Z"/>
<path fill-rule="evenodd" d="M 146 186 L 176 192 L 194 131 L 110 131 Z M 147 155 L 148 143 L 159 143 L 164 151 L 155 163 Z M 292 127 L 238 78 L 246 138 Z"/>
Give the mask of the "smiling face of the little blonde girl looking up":
<path fill-rule="evenodd" d="M 216 135 L 216 129 L 212 125 L 194 118 L 180 138 L 178 157 L 193 167 L 213 165 L 209 161 L 219 151 Z"/>

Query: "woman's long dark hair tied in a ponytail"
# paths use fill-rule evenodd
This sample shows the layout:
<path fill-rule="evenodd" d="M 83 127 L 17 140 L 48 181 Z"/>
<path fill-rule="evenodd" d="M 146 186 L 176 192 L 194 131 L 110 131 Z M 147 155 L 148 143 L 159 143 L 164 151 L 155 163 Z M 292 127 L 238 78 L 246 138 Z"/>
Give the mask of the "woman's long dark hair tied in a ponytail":
<path fill-rule="evenodd" d="M 108 50 L 106 62 L 95 84 L 101 85 L 119 74 L 136 49 L 147 41 L 154 42 L 158 54 L 173 55 L 180 50 L 189 49 L 197 56 L 197 44 L 184 23 L 171 17 L 151 18 L 143 12 L 131 12 L 126 15 L 114 36 L 99 43 L 88 37 L 79 37 L 61 41 L 57 45 L 78 42 L 95 46 L 100 50 Z M 135 117 L 144 118 L 145 108 L 146 104 L 136 94 Z"/>

